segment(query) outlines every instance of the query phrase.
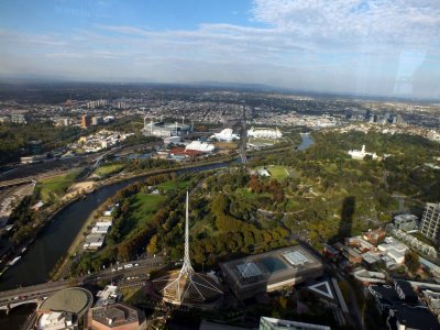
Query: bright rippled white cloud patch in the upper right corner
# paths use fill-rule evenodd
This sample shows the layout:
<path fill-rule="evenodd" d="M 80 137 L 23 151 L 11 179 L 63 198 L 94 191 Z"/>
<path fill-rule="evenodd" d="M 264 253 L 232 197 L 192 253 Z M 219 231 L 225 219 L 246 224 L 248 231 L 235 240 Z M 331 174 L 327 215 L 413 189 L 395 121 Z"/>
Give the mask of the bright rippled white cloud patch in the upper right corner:
<path fill-rule="evenodd" d="M 428 46 L 440 41 L 438 0 L 254 0 L 253 19 L 334 45 Z"/>

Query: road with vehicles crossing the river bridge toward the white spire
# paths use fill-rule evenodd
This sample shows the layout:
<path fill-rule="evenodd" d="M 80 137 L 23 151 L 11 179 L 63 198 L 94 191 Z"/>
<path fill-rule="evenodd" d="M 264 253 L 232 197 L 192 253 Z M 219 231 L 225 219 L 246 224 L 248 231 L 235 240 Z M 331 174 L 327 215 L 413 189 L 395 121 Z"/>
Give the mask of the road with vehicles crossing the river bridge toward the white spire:
<path fill-rule="evenodd" d="M 21 305 L 47 297 L 51 293 L 70 286 L 96 284 L 99 280 L 123 280 L 125 286 L 145 280 L 147 273 L 152 270 L 163 267 L 165 264 L 162 257 L 150 257 L 127 263 L 120 263 L 111 268 L 102 270 L 76 279 L 47 282 L 43 284 L 20 287 L 16 289 L 0 293 L 0 309 L 7 309 L 8 305 Z M 130 282 L 131 280 L 131 282 Z"/>

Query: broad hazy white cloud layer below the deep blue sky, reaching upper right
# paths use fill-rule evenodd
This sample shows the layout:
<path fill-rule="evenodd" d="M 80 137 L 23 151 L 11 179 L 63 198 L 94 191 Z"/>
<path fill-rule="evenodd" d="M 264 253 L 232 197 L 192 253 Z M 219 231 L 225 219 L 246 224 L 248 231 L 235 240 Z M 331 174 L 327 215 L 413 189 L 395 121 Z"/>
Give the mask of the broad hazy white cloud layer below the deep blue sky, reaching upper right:
<path fill-rule="evenodd" d="M 0 59 L 10 64 L 20 53 L 26 70 L 94 79 L 392 94 L 414 54 L 424 54 L 414 59 L 414 84 L 437 84 L 439 7 L 438 0 L 255 0 L 242 25 L 163 31 L 103 20 L 66 34 L 0 30 Z"/>

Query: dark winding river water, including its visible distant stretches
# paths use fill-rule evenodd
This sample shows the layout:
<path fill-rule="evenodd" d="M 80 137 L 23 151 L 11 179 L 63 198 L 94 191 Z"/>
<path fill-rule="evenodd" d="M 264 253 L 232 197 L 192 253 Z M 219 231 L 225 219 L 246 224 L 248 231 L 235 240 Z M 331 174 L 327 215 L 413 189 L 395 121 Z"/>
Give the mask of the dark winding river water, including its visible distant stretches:
<path fill-rule="evenodd" d="M 308 134 L 301 135 L 301 138 L 302 142 L 299 144 L 297 151 L 304 151 L 314 144 L 314 140 Z M 177 174 L 195 173 L 226 167 L 229 164 L 230 162 L 201 165 L 194 168 L 177 169 L 176 172 Z M 55 263 L 67 253 L 68 248 L 74 242 L 90 213 L 119 189 L 142 180 L 147 176 L 105 186 L 59 211 L 53 221 L 38 233 L 34 243 L 29 246 L 22 258 L 0 278 L 0 290 L 46 282 Z M 33 305 L 32 307 L 30 305 L 29 307 L 14 308 L 10 316 L 0 314 L 0 328 L 3 329 L 3 326 L 7 326 L 4 329 L 20 328 L 20 324 L 25 321 L 33 308 Z"/>

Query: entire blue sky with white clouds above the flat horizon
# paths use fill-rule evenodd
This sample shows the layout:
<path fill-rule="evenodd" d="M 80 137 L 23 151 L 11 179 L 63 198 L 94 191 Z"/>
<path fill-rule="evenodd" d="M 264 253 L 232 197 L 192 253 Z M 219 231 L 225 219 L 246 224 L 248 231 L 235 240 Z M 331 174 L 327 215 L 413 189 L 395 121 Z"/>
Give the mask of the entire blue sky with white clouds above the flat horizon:
<path fill-rule="evenodd" d="M 440 1 L 1 0 L 1 77 L 440 99 Z"/>

